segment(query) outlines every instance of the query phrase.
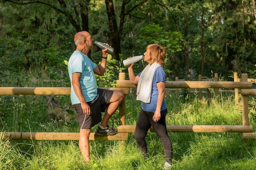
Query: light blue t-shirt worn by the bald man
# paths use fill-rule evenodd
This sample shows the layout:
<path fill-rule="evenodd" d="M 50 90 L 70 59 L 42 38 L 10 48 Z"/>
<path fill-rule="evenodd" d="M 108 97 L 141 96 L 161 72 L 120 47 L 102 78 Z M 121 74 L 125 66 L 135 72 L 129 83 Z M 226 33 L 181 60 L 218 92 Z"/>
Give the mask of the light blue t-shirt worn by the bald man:
<path fill-rule="evenodd" d="M 97 82 L 94 76 L 93 69 L 97 65 L 90 60 L 87 55 L 84 55 L 81 51 L 74 51 L 68 61 L 68 74 L 70 76 L 70 82 L 72 82 L 72 73 L 82 73 L 79 80 L 81 89 L 86 102 L 92 101 L 97 96 Z M 81 103 L 74 92 L 74 88 L 71 83 L 71 103 Z"/>

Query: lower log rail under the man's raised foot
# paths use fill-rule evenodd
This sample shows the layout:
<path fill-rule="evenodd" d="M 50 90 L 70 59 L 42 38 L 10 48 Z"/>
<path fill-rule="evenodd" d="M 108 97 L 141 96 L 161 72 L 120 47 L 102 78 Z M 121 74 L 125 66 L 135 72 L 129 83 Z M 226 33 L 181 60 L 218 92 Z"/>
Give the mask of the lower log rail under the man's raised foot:
<path fill-rule="evenodd" d="M 74 132 L 5 132 L 3 139 L 12 140 L 79 140 L 79 133 Z M 90 133 L 89 140 L 127 140 L 128 133 L 117 133 L 113 136 L 94 136 Z"/>

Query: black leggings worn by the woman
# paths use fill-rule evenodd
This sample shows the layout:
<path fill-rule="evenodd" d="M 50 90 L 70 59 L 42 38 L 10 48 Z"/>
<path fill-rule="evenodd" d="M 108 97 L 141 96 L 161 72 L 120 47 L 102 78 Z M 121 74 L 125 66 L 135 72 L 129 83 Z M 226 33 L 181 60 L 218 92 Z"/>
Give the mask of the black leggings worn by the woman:
<path fill-rule="evenodd" d="M 141 109 L 138 120 L 137 120 L 134 136 L 136 139 L 137 147 L 146 155 L 147 145 L 146 145 L 145 137 L 147 135 L 148 130 L 152 126 L 157 137 L 160 139 L 164 147 L 164 155 L 165 155 L 166 162 L 171 163 L 172 157 L 173 157 L 173 147 L 166 130 L 166 123 L 165 123 L 166 114 L 167 114 L 167 109 L 161 111 L 160 120 L 157 122 L 154 122 L 152 120 L 154 113 L 145 112 L 144 110 Z"/>

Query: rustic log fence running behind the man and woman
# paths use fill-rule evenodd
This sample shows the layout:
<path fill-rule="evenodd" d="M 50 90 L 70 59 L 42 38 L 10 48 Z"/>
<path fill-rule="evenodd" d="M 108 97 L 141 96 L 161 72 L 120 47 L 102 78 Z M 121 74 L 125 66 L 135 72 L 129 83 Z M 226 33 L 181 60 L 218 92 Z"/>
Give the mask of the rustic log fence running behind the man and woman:
<path fill-rule="evenodd" d="M 119 74 L 117 88 L 107 88 L 122 91 L 128 94 L 129 88 L 136 88 L 130 81 L 125 80 L 125 73 Z M 249 126 L 248 95 L 256 95 L 256 89 L 252 89 L 252 82 L 247 82 L 247 74 L 242 75 L 241 82 L 218 81 L 166 81 L 166 88 L 234 88 L 241 89 L 243 124 L 230 125 L 167 125 L 168 132 L 242 132 L 243 138 L 256 138 L 252 126 Z M 0 87 L 0 95 L 70 95 L 70 88 L 58 87 Z M 90 140 L 126 140 L 128 133 L 134 132 L 135 125 L 126 125 L 126 106 L 124 102 L 119 106 L 119 126 L 117 135 L 96 137 L 90 134 Z M 149 132 L 154 132 L 150 128 Z M 4 132 L 4 139 L 34 139 L 34 140 L 78 140 L 79 133 L 74 132 Z"/>

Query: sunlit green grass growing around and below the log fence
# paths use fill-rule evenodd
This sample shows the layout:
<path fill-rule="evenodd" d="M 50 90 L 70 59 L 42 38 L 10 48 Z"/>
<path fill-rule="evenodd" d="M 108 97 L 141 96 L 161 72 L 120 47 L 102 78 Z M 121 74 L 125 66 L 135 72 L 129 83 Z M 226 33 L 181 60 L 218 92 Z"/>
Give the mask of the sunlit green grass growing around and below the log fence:
<path fill-rule="evenodd" d="M 25 79 L 25 84 L 36 86 Z M 2 81 L 3 84 L 4 81 Z M 9 82 L 2 86 L 11 86 Z M 40 86 L 55 86 L 40 83 Z M 62 86 L 58 84 L 58 86 Z M 64 85 L 63 85 L 64 86 Z M 38 95 L 0 96 L 2 132 L 79 132 L 69 96 L 53 96 L 59 103 L 49 107 L 50 98 Z M 234 96 L 221 95 L 210 102 L 197 94 L 166 94 L 168 125 L 242 125 L 242 110 Z M 255 105 L 254 98 L 250 106 Z M 126 124 L 135 125 L 141 104 L 130 92 L 126 96 Z M 249 109 L 249 124 L 255 125 L 255 109 Z M 110 126 L 119 122 L 117 113 Z M 92 132 L 96 127 L 92 128 Z M 242 139 L 241 133 L 169 133 L 173 143 L 173 170 L 254 170 L 256 140 Z M 148 133 L 148 158 L 137 150 L 134 134 L 126 141 L 90 141 L 91 161 L 84 163 L 78 141 L 32 141 L 0 139 L 1 170 L 159 170 L 164 164 L 162 144 L 155 133 Z"/>

